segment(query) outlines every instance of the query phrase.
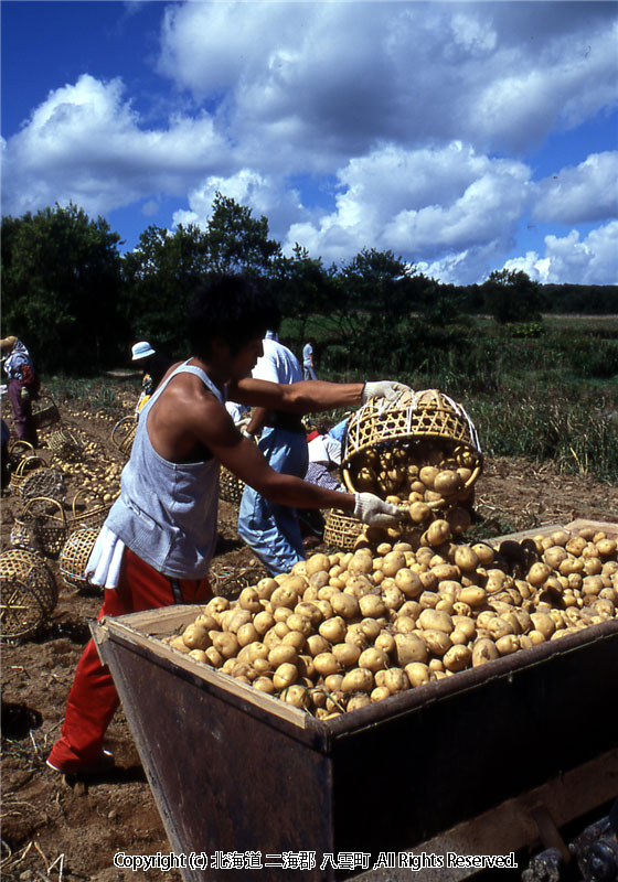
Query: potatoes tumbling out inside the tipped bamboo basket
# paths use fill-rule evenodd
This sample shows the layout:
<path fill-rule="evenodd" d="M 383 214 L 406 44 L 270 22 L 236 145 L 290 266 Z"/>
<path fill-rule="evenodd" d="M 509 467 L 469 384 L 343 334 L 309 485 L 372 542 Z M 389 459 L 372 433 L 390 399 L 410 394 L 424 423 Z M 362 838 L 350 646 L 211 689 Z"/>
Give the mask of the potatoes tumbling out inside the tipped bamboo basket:
<path fill-rule="evenodd" d="M 354 490 L 375 493 L 405 507 L 407 517 L 387 536 L 370 528 L 370 541 L 391 539 L 418 547 L 433 520 L 446 518 L 455 535 L 471 523 L 473 487 L 470 484 L 477 458 L 470 448 L 447 440 L 408 441 L 358 453 L 350 467 Z"/>

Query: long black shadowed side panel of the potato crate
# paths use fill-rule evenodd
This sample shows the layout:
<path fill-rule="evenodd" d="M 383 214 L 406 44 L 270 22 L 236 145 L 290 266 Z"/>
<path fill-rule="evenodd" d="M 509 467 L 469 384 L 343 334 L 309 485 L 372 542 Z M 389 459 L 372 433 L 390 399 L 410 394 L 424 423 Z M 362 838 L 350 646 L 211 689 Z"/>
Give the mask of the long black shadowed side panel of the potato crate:
<path fill-rule="evenodd" d="M 616 747 L 617 653 L 614 633 L 550 657 L 542 670 L 522 668 L 342 733 L 332 751 L 338 849 L 413 848 Z"/>

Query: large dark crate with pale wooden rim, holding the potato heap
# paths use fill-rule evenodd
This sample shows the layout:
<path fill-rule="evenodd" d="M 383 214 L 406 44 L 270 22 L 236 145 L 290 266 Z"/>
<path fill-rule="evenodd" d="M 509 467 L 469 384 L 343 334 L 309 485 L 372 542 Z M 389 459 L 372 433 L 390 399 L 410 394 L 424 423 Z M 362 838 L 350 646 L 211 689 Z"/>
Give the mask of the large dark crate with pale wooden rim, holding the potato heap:
<path fill-rule="evenodd" d="M 618 620 L 320 721 L 158 639 L 200 610 L 93 625 L 178 853 L 315 852 L 317 865 L 292 876 L 263 863 L 260 882 L 407 880 L 409 869 L 385 876 L 320 863 L 331 852 L 373 862 L 470 839 L 473 853 L 508 853 L 533 845 L 539 800 L 566 824 L 615 794 Z M 482 818 L 492 824 L 479 827 Z M 181 872 L 185 882 L 221 879 L 212 867 Z M 225 871 L 233 882 L 249 875 Z"/>

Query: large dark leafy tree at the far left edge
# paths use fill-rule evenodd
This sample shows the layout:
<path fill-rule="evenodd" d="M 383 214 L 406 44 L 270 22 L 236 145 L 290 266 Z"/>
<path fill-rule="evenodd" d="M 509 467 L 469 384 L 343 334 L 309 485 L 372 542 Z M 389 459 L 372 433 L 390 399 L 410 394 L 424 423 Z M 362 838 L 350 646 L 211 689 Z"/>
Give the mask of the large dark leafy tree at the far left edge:
<path fill-rule="evenodd" d="M 120 237 L 76 205 L 2 219 L 3 333 L 40 370 L 88 373 L 115 358 Z"/>

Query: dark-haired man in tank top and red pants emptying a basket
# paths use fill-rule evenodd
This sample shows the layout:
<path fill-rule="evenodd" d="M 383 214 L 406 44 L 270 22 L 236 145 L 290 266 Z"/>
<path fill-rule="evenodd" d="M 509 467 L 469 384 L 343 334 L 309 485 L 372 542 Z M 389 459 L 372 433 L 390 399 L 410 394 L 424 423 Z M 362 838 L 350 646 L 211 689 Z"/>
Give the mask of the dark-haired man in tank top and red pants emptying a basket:
<path fill-rule="evenodd" d="M 257 280 L 222 276 L 195 292 L 188 309 L 193 355 L 168 372 L 142 410 L 120 496 L 86 569 L 106 589 L 99 616 L 209 599 L 220 463 L 278 505 L 340 508 L 370 525 L 399 517 L 395 506 L 373 494 L 339 493 L 274 471 L 234 426 L 226 398 L 294 419 L 349 409 L 376 396 L 394 398 L 407 388 L 390 380 L 278 384 L 251 378 L 263 336 L 278 321 L 276 304 Z M 103 741 L 117 707 L 113 679 L 90 641 L 47 764 L 82 775 L 109 767 L 113 759 Z"/>

